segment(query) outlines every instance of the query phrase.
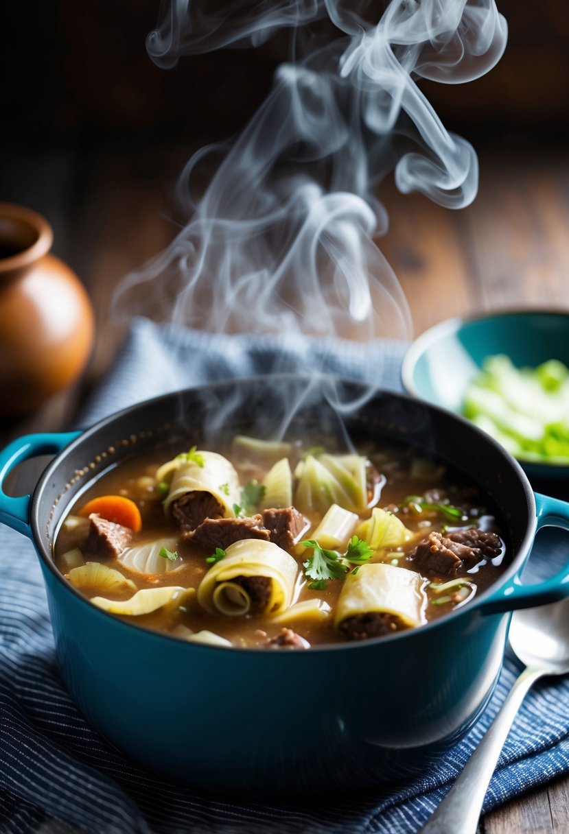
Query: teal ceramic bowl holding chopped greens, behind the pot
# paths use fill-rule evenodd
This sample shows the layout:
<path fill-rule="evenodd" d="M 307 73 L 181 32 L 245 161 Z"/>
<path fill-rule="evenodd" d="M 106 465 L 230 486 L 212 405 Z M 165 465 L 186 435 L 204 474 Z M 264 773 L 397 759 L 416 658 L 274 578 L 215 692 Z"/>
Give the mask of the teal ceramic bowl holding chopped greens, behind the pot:
<path fill-rule="evenodd" d="M 468 384 L 494 354 L 506 354 L 518 368 L 535 368 L 547 359 L 569 366 L 569 314 L 521 310 L 447 319 L 411 344 L 401 367 L 403 386 L 415 397 L 461 414 Z M 566 465 L 520 463 L 532 480 L 569 475 Z"/>

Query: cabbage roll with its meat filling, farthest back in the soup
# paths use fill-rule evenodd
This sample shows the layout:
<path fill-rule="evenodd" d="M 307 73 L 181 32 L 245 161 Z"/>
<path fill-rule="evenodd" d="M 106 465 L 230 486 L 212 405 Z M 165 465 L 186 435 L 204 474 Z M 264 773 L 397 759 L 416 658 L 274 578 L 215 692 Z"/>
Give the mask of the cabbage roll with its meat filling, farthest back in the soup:
<path fill-rule="evenodd" d="M 164 500 L 166 515 L 172 513 L 175 502 L 192 496 L 191 505 L 184 508 L 189 529 L 195 529 L 206 517 L 234 518 L 234 505 L 239 505 L 241 500 L 237 472 L 217 452 L 192 450 L 187 455 L 178 455 L 160 466 L 156 480 L 169 483 Z"/>

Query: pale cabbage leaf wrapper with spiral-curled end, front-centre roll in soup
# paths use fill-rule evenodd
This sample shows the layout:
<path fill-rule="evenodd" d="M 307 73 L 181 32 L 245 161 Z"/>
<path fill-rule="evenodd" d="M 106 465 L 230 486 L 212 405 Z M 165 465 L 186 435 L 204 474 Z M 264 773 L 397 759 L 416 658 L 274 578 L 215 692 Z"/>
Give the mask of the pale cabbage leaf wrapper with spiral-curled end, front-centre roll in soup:
<path fill-rule="evenodd" d="M 222 559 L 212 565 L 199 583 L 198 602 L 210 613 L 241 616 L 249 613 L 252 600 L 247 585 L 240 579 L 265 577 L 269 595 L 263 613 L 279 614 L 295 597 L 296 560 L 271 541 L 243 539 L 225 550 Z"/>

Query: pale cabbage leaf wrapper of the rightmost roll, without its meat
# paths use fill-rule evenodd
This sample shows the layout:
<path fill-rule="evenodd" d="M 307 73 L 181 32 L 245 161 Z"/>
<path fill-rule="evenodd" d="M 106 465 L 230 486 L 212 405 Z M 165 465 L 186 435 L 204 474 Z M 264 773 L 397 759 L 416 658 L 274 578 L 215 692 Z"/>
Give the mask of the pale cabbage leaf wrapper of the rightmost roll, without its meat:
<path fill-rule="evenodd" d="M 335 627 L 361 614 L 390 615 L 396 628 L 425 623 L 425 580 L 415 570 L 375 562 L 350 573 L 340 591 Z"/>

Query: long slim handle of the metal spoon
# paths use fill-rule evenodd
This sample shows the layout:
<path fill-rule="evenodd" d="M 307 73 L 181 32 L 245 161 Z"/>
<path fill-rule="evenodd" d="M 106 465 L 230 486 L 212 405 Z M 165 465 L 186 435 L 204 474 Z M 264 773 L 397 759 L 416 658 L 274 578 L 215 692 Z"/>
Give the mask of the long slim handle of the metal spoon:
<path fill-rule="evenodd" d="M 457 834 L 458 831 L 461 834 L 476 834 L 486 789 L 521 701 L 532 684 L 545 674 L 542 669 L 530 667 L 517 678 L 486 736 L 466 762 L 451 790 L 420 829 L 420 834 Z"/>

